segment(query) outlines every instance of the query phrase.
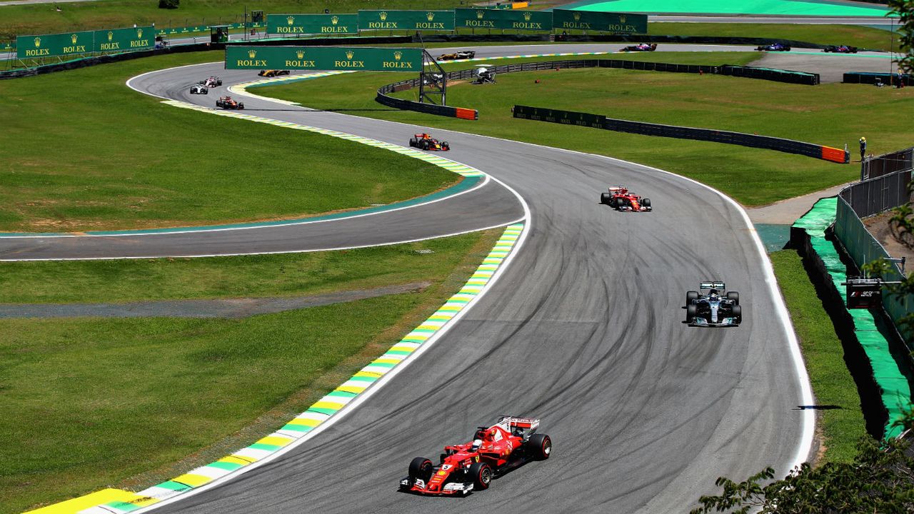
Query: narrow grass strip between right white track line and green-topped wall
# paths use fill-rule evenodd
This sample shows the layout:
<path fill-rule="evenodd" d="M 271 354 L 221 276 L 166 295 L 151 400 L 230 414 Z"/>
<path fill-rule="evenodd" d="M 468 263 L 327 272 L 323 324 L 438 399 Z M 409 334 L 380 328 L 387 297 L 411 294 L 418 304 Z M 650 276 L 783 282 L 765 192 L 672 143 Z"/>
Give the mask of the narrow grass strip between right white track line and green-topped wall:
<path fill-rule="evenodd" d="M 866 435 L 866 422 L 856 383 L 847 370 L 841 340 L 834 334 L 832 320 L 815 294 L 797 252 L 784 250 L 770 256 L 800 339 L 815 402 L 834 406 L 818 411 L 818 436 L 824 446 L 819 452 L 820 463 L 851 462 L 856 455 L 857 440 Z"/>

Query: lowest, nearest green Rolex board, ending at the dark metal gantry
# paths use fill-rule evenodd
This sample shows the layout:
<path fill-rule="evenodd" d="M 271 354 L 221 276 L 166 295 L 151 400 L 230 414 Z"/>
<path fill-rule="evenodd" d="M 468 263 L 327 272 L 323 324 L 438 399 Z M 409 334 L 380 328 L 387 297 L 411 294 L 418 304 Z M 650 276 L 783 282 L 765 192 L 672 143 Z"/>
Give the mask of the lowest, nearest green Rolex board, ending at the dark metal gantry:
<path fill-rule="evenodd" d="M 226 47 L 227 70 L 422 70 L 421 48 Z"/>

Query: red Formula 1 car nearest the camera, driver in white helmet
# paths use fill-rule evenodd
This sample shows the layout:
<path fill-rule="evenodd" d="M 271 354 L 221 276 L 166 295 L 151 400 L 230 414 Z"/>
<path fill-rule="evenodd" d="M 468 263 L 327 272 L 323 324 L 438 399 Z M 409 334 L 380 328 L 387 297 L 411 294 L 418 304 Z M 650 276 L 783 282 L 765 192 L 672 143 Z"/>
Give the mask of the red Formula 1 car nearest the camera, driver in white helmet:
<path fill-rule="evenodd" d="M 409 476 L 400 480 L 399 488 L 436 496 L 487 489 L 495 476 L 549 458 L 552 440 L 536 434 L 538 426 L 539 420 L 501 416 L 498 423 L 479 427 L 472 442 L 444 446 L 438 466 L 425 457 L 412 459 Z"/>

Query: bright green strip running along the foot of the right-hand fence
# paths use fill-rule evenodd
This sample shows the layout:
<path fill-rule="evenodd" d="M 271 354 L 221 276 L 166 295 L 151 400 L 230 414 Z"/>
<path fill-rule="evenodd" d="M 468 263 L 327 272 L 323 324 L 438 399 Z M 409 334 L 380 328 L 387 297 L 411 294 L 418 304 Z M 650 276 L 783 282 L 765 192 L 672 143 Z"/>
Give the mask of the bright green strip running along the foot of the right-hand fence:
<path fill-rule="evenodd" d="M 805 229 L 809 234 L 813 250 L 824 262 L 834 287 L 846 302 L 845 286 L 841 283 L 847 280 L 847 267 L 841 262 L 834 242 L 825 239 L 825 229 L 834 223 L 836 210 L 837 198 L 823 198 L 793 226 Z M 854 319 L 854 334 L 873 366 L 873 377 L 879 386 L 882 403 L 888 411 L 886 437 L 895 437 L 901 433 L 901 427 L 893 425 L 904 416 L 905 409 L 911 403 L 908 379 L 892 356 L 888 340 L 879 330 L 873 313 L 869 309 L 848 309 L 848 312 Z"/>

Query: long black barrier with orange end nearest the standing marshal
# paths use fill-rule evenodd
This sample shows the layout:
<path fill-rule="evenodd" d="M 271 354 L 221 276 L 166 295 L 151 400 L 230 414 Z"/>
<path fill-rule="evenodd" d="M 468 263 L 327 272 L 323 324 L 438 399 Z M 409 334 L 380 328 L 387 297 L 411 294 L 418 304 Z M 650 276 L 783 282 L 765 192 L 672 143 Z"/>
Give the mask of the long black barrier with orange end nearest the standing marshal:
<path fill-rule="evenodd" d="M 540 122 L 563 123 L 570 125 L 601 128 L 614 132 L 629 134 L 659 135 L 662 137 L 675 137 L 676 139 L 695 139 L 697 141 L 710 141 L 712 143 L 726 143 L 728 145 L 749 146 L 777 150 L 786 154 L 806 155 L 834 163 L 847 164 L 850 154 L 845 150 L 830 146 L 813 145 L 792 139 L 781 139 L 769 135 L 744 134 L 694 127 L 681 127 L 676 125 L 663 125 L 659 123 L 631 122 L 607 118 L 601 114 L 587 112 L 558 111 L 541 107 L 527 107 L 515 105 L 512 109 L 515 118 L 534 120 Z"/>

